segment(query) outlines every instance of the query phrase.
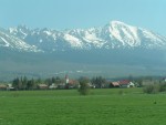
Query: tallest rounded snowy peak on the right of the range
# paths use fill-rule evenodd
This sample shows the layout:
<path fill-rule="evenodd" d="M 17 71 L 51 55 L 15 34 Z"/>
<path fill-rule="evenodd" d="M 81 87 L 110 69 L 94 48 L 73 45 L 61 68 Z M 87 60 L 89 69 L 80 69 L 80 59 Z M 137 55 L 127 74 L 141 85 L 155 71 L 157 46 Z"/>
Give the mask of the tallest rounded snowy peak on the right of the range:
<path fill-rule="evenodd" d="M 133 27 L 120 21 L 111 21 L 103 29 L 111 41 L 127 48 L 155 48 L 166 45 L 166 39 L 143 28 Z M 116 42 L 116 43 L 117 43 Z"/>

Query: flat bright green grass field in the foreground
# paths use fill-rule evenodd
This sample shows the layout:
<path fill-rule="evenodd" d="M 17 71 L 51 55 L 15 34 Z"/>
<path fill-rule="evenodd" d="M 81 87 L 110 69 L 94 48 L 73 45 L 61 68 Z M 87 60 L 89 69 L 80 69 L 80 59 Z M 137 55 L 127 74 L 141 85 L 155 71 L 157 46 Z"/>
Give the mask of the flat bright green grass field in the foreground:
<path fill-rule="evenodd" d="M 0 125 L 165 125 L 165 114 L 166 94 L 142 88 L 0 92 Z"/>

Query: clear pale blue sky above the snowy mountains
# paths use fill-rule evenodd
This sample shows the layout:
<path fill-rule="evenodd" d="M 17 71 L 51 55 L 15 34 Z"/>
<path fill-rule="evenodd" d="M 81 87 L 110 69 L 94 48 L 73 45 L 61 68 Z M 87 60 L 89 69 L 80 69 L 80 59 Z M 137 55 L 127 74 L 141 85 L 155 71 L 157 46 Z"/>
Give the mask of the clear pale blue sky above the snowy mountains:
<path fill-rule="evenodd" d="M 0 0 L 0 27 L 55 30 L 123 21 L 166 35 L 166 0 Z"/>

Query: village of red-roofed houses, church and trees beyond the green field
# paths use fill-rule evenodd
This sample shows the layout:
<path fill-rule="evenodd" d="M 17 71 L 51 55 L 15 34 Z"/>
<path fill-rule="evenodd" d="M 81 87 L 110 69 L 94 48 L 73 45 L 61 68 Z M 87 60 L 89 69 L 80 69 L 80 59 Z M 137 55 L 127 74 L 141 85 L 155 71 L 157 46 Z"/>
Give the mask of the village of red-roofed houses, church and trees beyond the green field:
<path fill-rule="evenodd" d="M 132 88 L 166 82 L 163 77 L 139 77 L 110 80 L 102 76 L 80 77 L 86 79 L 90 88 Z M 25 91 L 25 90 L 71 90 L 80 87 L 80 79 L 51 77 L 46 80 L 28 80 L 25 76 L 17 77 L 11 83 L 0 83 L 0 91 Z"/>

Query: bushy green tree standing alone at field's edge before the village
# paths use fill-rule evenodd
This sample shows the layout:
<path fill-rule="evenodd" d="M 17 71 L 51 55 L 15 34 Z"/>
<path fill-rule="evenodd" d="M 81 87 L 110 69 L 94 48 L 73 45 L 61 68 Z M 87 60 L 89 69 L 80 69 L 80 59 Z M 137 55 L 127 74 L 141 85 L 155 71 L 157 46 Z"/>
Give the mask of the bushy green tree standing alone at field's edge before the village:
<path fill-rule="evenodd" d="M 87 95 L 90 93 L 90 80 L 86 77 L 80 77 L 80 88 L 79 92 L 81 95 Z"/>

